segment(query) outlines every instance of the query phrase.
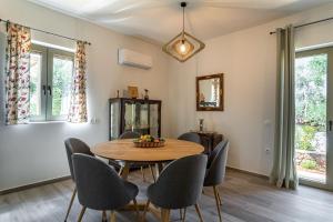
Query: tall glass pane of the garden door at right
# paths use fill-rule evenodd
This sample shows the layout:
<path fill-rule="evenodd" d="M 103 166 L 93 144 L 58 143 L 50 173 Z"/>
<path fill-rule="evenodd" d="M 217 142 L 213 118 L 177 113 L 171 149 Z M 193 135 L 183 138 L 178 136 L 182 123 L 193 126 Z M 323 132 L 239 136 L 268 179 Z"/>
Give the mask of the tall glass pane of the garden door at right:
<path fill-rule="evenodd" d="M 326 181 L 327 54 L 295 62 L 295 149 L 300 178 Z"/>

